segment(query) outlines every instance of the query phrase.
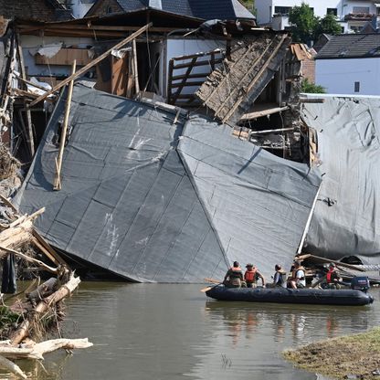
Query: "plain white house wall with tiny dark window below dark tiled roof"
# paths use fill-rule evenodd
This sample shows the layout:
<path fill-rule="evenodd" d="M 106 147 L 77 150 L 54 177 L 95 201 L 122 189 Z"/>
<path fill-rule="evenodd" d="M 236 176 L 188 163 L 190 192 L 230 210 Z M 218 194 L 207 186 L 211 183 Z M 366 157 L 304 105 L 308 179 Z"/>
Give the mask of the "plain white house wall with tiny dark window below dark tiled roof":
<path fill-rule="evenodd" d="M 315 82 L 330 94 L 380 95 L 380 58 L 316 59 Z"/>

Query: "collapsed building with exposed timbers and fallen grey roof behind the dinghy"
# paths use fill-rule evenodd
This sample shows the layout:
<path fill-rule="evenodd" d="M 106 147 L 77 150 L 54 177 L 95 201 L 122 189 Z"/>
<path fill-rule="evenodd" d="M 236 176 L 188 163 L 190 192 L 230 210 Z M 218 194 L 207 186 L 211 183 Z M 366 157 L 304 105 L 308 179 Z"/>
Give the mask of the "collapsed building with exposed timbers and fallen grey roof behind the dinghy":
<path fill-rule="evenodd" d="M 302 248 L 377 264 L 375 105 L 301 96 L 287 33 L 157 10 L 14 27 L 4 94 L 21 111 L 3 125 L 33 157 L 17 203 L 45 206 L 38 230 L 82 268 L 199 282 L 237 259 L 269 276 Z M 337 165 L 367 185 L 348 196 Z"/>

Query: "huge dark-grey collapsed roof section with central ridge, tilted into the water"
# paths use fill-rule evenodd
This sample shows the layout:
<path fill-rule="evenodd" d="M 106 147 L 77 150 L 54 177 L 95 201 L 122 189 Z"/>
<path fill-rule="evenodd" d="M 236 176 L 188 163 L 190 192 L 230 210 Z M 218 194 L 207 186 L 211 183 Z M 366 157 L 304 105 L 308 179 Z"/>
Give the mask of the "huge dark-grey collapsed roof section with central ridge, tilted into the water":
<path fill-rule="evenodd" d="M 76 85 L 55 192 L 63 112 L 61 99 L 18 195 L 24 212 L 46 206 L 36 226 L 52 245 L 137 281 L 221 279 L 235 259 L 267 275 L 290 265 L 319 185 L 306 165 L 201 117 L 183 134 L 176 110 Z"/>

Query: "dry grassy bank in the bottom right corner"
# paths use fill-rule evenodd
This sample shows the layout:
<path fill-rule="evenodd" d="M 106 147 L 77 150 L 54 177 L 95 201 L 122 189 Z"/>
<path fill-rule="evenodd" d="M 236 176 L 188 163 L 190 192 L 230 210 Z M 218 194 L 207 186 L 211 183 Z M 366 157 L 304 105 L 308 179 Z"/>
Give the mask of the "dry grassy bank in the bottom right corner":
<path fill-rule="evenodd" d="M 286 350 L 283 355 L 299 368 L 335 379 L 380 379 L 380 327 Z"/>

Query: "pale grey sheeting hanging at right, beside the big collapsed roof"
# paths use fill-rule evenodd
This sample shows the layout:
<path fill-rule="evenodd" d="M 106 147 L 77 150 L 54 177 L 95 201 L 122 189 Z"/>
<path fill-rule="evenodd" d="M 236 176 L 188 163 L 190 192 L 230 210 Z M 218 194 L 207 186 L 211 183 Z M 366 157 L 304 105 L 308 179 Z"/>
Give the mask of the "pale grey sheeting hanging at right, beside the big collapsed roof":
<path fill-rule="evenodd" d="M 318 132 L 324 173 L 305 250 L 378 264 L 380 98 L 321 97 L 323 103 L 305 103 L 302 111 Z"/>

